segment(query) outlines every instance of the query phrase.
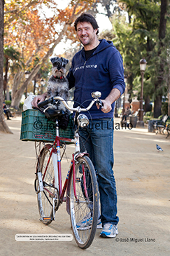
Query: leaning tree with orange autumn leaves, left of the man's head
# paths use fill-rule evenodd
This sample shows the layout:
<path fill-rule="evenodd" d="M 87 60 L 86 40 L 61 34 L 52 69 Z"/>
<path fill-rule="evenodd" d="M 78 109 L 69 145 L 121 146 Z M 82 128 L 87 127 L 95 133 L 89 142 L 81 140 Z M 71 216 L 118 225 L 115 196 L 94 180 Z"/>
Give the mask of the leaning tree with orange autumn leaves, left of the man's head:
<path fill-rule="evenodd" d="M 36 4 L 37 2 L 41 1 L 36 1 Z M 36 67 L 31 66 L 31 73 L 26 81 L 24 79 L 24 69 L 18 70 L 15 74 L 11 102 L 13 107 L 18 107 L 25 88 L 36 76 L 36 73 L 44 65 L 45 61 L 52 55 L 55 46 L 62 40 L 67 30 L 71 28 L 71 24 L 76 16 L 80 15 L 83 11 L 87 11 L 92 2 L 92 0 L 71 0 L 69 6 L 64 10 L 55 8 L 56 15 L 54 17 L 43 19 L 41 19 L 35 6 L 34 8 L 29 6 L 27 12 L 22 11 L 19 20 L 13 20 L 11 26 L 8 24 L 8 35 L 10 33 L 10 38 L 8 36 L 6 44 L 8 45 L 15 41 L 20 46 L 25 69 L 30 68 L 35 57 L 38 57 L 40 60 Z M 54 3 L 52 2 L 52 4 Z M 55 24 L 59 24 L 62 29 L 56 32 Z M 15 27 L 14 33 L 13 26 Z"/>

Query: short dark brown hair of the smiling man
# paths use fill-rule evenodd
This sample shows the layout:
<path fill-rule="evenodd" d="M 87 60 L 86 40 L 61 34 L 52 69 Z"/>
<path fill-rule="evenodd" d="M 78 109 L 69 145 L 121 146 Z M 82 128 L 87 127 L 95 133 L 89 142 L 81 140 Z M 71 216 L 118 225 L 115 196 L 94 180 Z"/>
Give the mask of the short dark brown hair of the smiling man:
<path fill-rule="evenodd" d="M 90 13 L 82 13 L 74 22 L 75 30 L 77 31 L 78 22 L 89 22 L 93 29 L 97 29 L 97 34 L 99 34 L 99 26 L 97 21 Z"/>

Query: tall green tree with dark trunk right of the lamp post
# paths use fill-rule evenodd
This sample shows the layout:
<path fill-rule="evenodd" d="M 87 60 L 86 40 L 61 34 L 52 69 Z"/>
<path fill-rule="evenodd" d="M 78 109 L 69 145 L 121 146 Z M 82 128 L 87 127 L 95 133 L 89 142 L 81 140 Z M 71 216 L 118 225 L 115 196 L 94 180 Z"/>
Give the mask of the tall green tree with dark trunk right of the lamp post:
<path fill-rule="evenodd" d="M 167 41 L 165 34 L 167 0 L 120 0 L 120 2 L 130 17 L 132 36 L 139 36 L 139 53 L 148 62 L 143 95 L 146 105 L 149 106 L 149 96 L 154 98 L 154 117 L 160 116 L 162 95 L 167 92 L 166 76 L 168 72 L 165 72 L 164 69 L 167 66 L 167 48 L 169 48 L 169 44 L 165 43 Z M 137 66 L 139 67 L 139 63 Z M 139 80 L 140 74 L 136 72 L 134 75 L 136 80 L 133 83 L 135 84 L 135 81 Z"/>

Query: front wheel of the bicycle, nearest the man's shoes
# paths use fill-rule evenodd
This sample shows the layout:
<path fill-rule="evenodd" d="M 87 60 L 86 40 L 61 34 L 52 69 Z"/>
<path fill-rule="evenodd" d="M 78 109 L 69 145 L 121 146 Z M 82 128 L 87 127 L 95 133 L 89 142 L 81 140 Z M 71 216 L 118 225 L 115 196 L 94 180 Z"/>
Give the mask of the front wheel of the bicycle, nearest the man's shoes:
<path fill-rule="evenodd" d="M 89 200 L 85 199 L 85 192 L 83 193 L 83 174 L 82 168 L 85 167 L 86 175 L 86 185 Z M 91 182 L 90 182 L 91 179 Z M 89 183 L 88 183 L 89 182 Z M 91 187 L 90 187 L 91 186 Z M 91 194 L 90 194 L 91 193 Z M 79 157 L 76 163 L 76 194 L 75 197 L 73 191 L 73 173 L 71 175 L 71 184 L 69 191 L 70 198 L 70 218 L 71 218 L 71 228 L 73 231 L 73 236 L 76 240 L 78 246 L 82 249 L 88 248 L 94 239 L 96 229 L 97 229 L 97 219 L 98 219 L 98 185 L 97 176 L 94 170 L 92 161 L 88 156 Z M 78 222 L 83 220 L 84 217 L 88 215 L 92 216 L 92 226 L 90 229 L 80 230 L 78 229 Z"/>

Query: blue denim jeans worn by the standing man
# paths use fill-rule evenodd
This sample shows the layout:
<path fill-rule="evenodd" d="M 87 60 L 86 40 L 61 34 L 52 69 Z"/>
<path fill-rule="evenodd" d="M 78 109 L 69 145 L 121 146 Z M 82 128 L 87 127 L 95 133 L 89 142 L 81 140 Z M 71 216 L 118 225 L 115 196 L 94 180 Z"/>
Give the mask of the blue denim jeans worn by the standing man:
<path fill-rule="evenodd" d="M 113 119 L 94 119 L 80 128 L 80 151 L 87 151 L 97 171 L 102 224 L 118 224 L 117 193 L 113 175 Z"/>

